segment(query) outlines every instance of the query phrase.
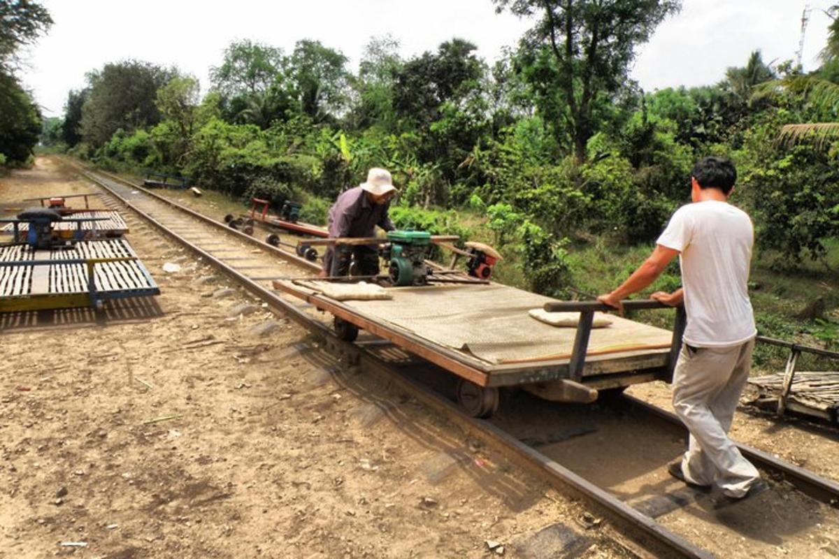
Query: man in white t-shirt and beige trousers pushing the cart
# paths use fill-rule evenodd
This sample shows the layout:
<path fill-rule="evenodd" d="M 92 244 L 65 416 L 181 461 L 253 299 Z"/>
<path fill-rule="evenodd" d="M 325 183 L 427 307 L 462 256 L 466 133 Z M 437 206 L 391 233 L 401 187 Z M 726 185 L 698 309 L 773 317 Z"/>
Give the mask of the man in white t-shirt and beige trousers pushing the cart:
<path fill-rule="evenodd" d="M 673 375 L 673 406 L 690 440 L 685 455 L 668 471 L 686 484 L 710 490 L 717 508 L 768 488 L 727 435 L 748 380 L 757 335 L 746 287 L 752 221 L 727 202 L 736 179 L 727 159 L 696 163 L 690 178 L 693 203 L 676 210 L 653 254 L 626 282 L 598 297 L 623 310 L 621 299 L 649 286 L 680 255 L 682 287 L 651 296 L 670 306 L 684 303 L 687 313 Z"/>

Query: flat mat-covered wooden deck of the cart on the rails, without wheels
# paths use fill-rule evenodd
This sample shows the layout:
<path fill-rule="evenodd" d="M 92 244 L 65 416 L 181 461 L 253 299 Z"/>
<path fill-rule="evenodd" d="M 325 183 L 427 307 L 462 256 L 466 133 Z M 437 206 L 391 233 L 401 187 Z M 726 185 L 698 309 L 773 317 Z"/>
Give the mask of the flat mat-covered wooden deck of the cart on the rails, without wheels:
<path fill-rule="evenodd" d="M 612 316 L 592 329 L 581 378 L 570 367 L 576 328 L 528 314 L 554 299 L 498 283 L 390 287 L 390 300 L 337 301 L 316 281 L 274 287 L 450 370 L 478 386 L 581 380 L 593 388 L 666 379 L 673 334 Z"/>

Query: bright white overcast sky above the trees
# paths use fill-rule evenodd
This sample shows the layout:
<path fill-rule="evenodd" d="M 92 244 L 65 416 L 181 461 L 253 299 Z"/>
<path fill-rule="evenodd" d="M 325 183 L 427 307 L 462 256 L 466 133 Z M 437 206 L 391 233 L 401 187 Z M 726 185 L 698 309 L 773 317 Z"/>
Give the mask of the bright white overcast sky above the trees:
<path fill-rule="evenodd" d="M 357 64 L 371 37 L 392 34 L 405 58 L 460 37 L 477 44 L 488 62 L 515 45 L 529 22 L 498 15 L 491 0 L 40 0 L 55 25 L 29 49 L 24 83 L 47 116 L 60 116 L 67 91 L 85 85 L 85 74 L 107 62 L 133 58 L 175 65 L 195 75 L 206 91 L 208 70 L 227 44 L 253 39 L 294 49 L 317 39 Z M 834 0 L 810 0 L 805 70 L 818 66 Z M 638 50 L 632 77 L 644 90 L 706 85 L 726 68 L 745 65 L 753 49 L 763 60 L 795 58 L 805 0 L 684 0 Z"/>

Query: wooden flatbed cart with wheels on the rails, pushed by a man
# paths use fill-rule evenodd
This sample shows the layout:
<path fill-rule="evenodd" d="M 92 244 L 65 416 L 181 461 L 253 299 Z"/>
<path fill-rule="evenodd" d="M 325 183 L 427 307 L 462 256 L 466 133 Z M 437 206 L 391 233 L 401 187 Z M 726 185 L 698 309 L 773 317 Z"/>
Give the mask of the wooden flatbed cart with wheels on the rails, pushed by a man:
<path fill-rule="evenodd" d="M 389 300 L 327 297 L 326 282 L 275 280 L 274 288 L 335 317 L 336 333 L 352 341 L 367 330 L 460 377 L 458 400 L 476 417 L 498 409 L 498 388 L 519 386 L 553 401 L 591 402 L 598 391 L 621 391 L 651 380 L 670 381 L 685 314 L 675 332 L 613 316 L 592 329 L 597 302 L 558 302 L 493 282 L 387 287 Z M 529 309 L 580 313 L 576 328 L 557 328 Z M 628 301 L 628 310 L 664 308 Z"/>

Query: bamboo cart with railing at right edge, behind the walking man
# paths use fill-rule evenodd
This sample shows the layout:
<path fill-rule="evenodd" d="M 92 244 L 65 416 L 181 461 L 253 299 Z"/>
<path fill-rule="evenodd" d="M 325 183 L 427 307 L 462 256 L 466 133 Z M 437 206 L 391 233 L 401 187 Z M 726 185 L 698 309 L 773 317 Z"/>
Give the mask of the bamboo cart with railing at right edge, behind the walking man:
<path fill-rule="evenodd" d="M 758 342 L 789 349 L 789 358 L 783 373 L 748 380 L 758 391 L 753 404 L 773 410 L 779 417 L 786 411 L 795 411 L 826 422 L 839 422 L 839 372 L 797 370 L 803 353 L 839 359 L 839 352 L 765 336 L 758 336 Z"/>

